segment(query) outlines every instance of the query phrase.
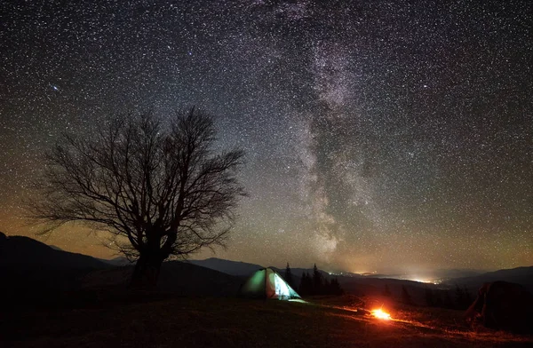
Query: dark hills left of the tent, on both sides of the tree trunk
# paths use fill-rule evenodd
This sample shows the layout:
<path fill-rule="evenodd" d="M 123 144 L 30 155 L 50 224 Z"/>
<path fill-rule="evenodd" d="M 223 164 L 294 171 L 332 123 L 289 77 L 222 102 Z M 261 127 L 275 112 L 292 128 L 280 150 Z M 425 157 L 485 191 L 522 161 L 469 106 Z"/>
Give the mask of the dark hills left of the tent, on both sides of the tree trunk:
<path fill-rule="evenodd" d="M 127 264 L 127 265 L 126 265 Z M 34 290 L 125 289 L 134 266 L 125 257 L 101 260 L 0 233 L 0 294 Z M 164 262 L 157 288 L 184 296 L 234 296 L 243 279 L 179 261 Z"/>

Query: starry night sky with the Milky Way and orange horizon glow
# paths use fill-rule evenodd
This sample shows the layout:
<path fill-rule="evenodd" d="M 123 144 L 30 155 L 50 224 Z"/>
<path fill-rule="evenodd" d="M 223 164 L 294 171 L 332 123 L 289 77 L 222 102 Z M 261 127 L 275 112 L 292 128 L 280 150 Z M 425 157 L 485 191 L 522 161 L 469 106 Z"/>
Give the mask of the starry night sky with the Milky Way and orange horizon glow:
<path fill-rule="evenodd" d="M 533 265 L 530 0 L 3 1 L 0 230 L 112 257 L 80 225 L 36 237 L 29 183 L 62 132 L 184 105 L 246 151 L 217 257 Z"/>

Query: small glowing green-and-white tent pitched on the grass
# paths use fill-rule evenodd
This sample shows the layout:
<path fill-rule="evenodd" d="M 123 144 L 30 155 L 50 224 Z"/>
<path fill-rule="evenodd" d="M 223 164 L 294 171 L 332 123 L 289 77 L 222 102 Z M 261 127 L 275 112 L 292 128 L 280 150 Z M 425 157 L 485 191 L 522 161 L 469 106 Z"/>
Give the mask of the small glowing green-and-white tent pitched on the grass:
<path fill-rule="evenodd" d="M 300 298 L 282 276 L 272 268 L 263 268 L 253 273 L 239 290 L 240 297 L 273 298 L 289 300 Z"/>

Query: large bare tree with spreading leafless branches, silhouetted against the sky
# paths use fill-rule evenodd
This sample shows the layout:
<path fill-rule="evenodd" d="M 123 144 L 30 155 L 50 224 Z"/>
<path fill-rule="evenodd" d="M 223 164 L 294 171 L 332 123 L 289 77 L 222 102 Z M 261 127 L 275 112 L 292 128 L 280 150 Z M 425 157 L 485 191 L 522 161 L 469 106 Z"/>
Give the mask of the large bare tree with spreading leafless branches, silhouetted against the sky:
<path fill-rule="evenodd" d="M 48 230 L 72 221 L 106 230 L 137 260 L 131 285 L 153 287 L 163 260 L 224 245 L 232 226 L 243 151 L 215 154 L 214 142 L 211 116 L 194 107 L 170 127 L 148 113 L 115 118 L 92 138 L 65 136 L 47 154 L 30 215 Z"/>

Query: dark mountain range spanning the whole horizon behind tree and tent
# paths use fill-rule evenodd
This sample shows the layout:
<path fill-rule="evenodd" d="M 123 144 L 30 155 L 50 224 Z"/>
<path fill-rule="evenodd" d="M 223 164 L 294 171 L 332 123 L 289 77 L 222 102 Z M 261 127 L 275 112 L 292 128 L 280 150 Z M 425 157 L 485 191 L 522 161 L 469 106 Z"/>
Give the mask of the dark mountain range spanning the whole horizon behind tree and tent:
<path fill-rule="evenodd" d="M 6 236 L 0 233 L 0 280 L 3 284 L 31 284 L 46 288 L 98 288 L 123 287 L 127 285 L 132 267 L 125 257 L 112 260 L 98 259 L 83 254 L 71 253 L 43 242 L 23 236 Z M 158 284 L 160 289 L 187 294 L 192 292 L 204 295 L 230 295 L 251 273 L 263 268 L 262 265 L 237 262 L 217 257 L 186 262 L 170 261 L 163 263 Z M 274 268 L 284 274 L 284 269 Z M 294 282 L 298 283 L 303 273 L 312 269 L 291 268 Z M 390 279 L 385 276 L 363 276 L 352 273 L 330 275 L 321 271 L 324 277 L 336 277 L 348 292 L 381 291 L 385 284 L 394 289 L 402 285 L 418 289 L 453 289 L 465 287 L 475 293 L 476 289 L 488 281 L 512 281 L 533 291 L 533 266 L 499 270 L 490 273 L 466 273 L 448 279 L 442 284 L 425 284 L 416 281 Z M 457 271 L 457 275 L 465 274 Z"/>

